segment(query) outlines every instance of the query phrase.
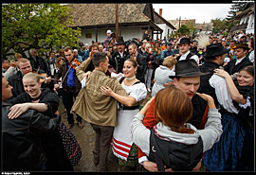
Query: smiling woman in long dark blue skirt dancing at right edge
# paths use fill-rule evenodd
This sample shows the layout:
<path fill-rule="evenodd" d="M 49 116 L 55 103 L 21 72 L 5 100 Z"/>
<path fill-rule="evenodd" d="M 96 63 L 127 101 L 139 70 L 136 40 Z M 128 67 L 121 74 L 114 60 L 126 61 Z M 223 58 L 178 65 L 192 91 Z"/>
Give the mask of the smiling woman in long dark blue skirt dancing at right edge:
<path fill-rule="evenodd" d="M 205 153 L 203 164 L 210 171 L 252 171 L 254 67 L 242 68 L 234 82 L 228 72 L 214 71 L 210 85 L 221 105 L 223 133 L 219 142 Z"/>

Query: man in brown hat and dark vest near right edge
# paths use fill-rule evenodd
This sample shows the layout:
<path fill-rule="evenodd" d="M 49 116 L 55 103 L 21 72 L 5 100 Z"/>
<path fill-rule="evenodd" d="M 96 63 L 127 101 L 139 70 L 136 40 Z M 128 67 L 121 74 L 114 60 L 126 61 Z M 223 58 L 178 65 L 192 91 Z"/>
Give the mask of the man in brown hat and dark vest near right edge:
<path fill-rule="evenodd" d="M 237 73 L 240 69 L 247 65 L 252 65 L 252 62 L 247 59 L 248 50 L 248 44 L 237 44 L 234 49 L 235 59 L 232 59 L 224 66 L 225 71 L 231 75 L 232 79 L 237 78 Z"/>

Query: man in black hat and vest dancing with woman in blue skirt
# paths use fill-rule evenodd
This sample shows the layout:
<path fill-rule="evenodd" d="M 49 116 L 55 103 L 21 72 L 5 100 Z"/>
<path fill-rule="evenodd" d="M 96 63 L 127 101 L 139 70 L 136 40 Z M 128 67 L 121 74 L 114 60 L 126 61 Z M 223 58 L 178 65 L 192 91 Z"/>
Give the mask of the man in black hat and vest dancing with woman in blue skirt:
<path fill-rule="evenodd" d="M 200 77 L 200 87 L 197 92 L 210 95 L 214 99 L 216 107 L 218 106 L 218 100 L 215 95 L 215 89 L 210 86 L 209 79 L 214 73 L 213 70 L 223 65 L 228 52 L 229 49 L 225 48 L 222 44 L 210 44 L 207 46 L 207 51 L 204 54 L 206 61 L 199 66 L 201 72 L 209 74 Z"/>

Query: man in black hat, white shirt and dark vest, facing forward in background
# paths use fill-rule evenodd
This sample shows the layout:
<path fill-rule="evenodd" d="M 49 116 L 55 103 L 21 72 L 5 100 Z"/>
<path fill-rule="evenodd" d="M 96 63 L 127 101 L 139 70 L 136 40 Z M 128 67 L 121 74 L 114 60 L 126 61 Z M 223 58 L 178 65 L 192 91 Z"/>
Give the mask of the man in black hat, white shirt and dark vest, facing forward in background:
<path fill-rule="evenodd" d="M 193 59 L 194 61 L 199 64 L 199 58 L 197 55 L 193 55 L 190 51 L 191 49 L 191 39 L 190 38 L 181 38 L 179 41 L 179 54 L 176 58 L 177 61 L 184 61 L 184 60 L 190 60 Z"/>

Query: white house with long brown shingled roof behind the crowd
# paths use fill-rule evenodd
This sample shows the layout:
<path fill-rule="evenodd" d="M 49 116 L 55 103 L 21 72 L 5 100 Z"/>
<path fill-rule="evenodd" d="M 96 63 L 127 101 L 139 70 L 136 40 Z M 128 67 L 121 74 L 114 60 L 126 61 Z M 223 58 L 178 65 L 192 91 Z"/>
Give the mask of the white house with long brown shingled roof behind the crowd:
<path fill-rule="evenodd" d="M 68 4 L 74 24 L 71 27 L 82 28 L 80 40 L 84 44 L 103 42 L 106 31 L 116 33 L 117 4 Z M 152 4 L 118 4 L 119 37 L 124 41 L 133 38 L 142 39 L 145 30 L 151 36 L 162 33 L 163 29 L 155 24 Z"/>

